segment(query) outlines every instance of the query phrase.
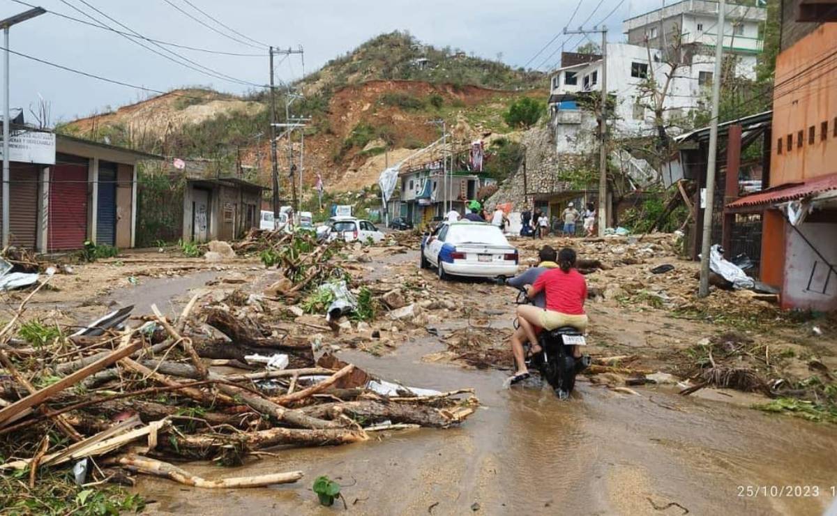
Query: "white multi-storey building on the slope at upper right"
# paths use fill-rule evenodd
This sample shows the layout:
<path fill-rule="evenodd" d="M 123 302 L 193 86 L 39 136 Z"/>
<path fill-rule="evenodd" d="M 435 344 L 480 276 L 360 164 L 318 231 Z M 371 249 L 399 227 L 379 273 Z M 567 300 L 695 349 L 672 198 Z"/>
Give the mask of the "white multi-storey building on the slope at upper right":
<path fill-rule="evenodd" d="M 662 89 L 671 71 L 668 62 L 680 66 L 665 95 L 664 120 L 689 117 L 691 111 L 703 109 L 714 75 L 717 7 L 715 2 L 684 0 L 624 22 L 628 43 L 608 43 L 607 47 L 608 93 L 615 102 L 608 125 L 614 137 L 654 133 L 654 101 L 640 85 L 653 77 L 657 89 Z M 759 27 L 766 18 L 765 9 L 727 5 L 727 18 L 731 21 L 725 31 L 729 34 L 724 37 L 725 52 L 736 55 L 738 76 L 753 79 L 756 56 L 762 49 Z M 675 43 L 678 38 L 680 45 Z M 680 55 L 672 56 L 674 52 Z M 549 101 L 557 151 L 593 151 L 598 123 L 591 110 L 579 108 L 584 97 L 591 96 L 585 94 L 598 99 L 596 92 L 601 92 L 601 56 L 565 53 L 562 63 L 565 66 L 552 76 Z"/>

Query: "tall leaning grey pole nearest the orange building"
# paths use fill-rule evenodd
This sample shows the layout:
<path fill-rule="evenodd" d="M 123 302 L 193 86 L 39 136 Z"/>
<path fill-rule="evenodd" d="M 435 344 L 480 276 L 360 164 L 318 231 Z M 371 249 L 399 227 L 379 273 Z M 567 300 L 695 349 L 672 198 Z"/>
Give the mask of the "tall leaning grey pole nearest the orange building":
<path fill-rule="evenodd" d="M 706 160 L 706 209 L 703 212 L 701 241 L 701 288 L 698 297 L 709 295 L 709 253 L 712 241 L 712 203 L 715 197 L 715 161 L 718 149 L 718 102 L 721 97 L 721 60 L 724 54 L 724 0 L 718 4 L 718 30 L 715 42 L 715 76 L 712 78 L 712 118 L 709 126 L 709 156 Z"/>

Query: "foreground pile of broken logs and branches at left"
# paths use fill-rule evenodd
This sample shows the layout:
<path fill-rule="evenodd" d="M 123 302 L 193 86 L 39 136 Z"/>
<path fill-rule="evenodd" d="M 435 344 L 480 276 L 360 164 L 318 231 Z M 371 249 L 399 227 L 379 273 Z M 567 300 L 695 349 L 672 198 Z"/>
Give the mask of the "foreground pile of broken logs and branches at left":
<path fill-rule="evenodd" d="M 303 473 L 212 480 L 167 458 L 241 464 L 279 445 L 341 445 L 385 429 L 449 427 L 476 404 L 460 396 L 467 389 L 377 394 L 367 388 L 372 376 L 331 355 L 320 338 L 256 327 L 200 306 L 197 296 L 175 320 L 153 307 L 153 315 L 122 330 L 34 348 L 14 337 L 35 292 L 0 330 L 0 455 L 8 457 L 0 471 L 28 469 L 31 482 L 39 468 L 88 460 L 95 467 L 85 482 L 121 470 L 121 478 L 147 473 L 203 488 L 290 483 Z M 244 359 L 276 353 L 288 355 L 287 368 L 265 370 Z M 48 432 L 65 439 L 54 444 L 43 439 Z"/>

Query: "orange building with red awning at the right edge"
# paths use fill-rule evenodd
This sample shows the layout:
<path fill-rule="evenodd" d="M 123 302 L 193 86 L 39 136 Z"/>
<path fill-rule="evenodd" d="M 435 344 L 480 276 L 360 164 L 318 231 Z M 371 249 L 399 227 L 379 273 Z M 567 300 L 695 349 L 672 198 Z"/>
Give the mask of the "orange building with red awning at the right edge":
<path fill-rule="evenodd" d="M 763 210 L 761 279 L 781 289 L 783 308 L 832 311 L 837 309 L 837 23 L 798 23 L 800 4 L 804 0 L 792 6 L 797 18 L 787 31 L 794 40 L 786 42 L 783 35 L 776 60 L 768 184 L 727 209 Z"/>

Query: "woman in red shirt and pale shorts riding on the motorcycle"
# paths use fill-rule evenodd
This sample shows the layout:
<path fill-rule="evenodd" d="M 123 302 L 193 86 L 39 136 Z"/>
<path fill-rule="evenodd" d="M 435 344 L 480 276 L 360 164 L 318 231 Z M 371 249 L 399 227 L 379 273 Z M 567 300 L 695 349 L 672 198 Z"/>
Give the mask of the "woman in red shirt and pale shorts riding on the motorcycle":
<path fill-rule="evenodd" d="M 517 307 L 517 319 L 526 337 L 531 343 L 532 353 L 541 350 L 537 345 L 536 328 L 555 330 L 561 326 L 573 326 L 579 331 L 587 330 L 587 314 L 584 313 L 584 301 L 587 299 L 587 281 L 575 268 L 576 253 L 571 248 L 563 248 L 558 253 L 558 267 L 542 273 L 535 284 L 526 290 L 529 299 L 539 292 L 547 294 L 547 308 L 540 309 L 531 304 Z M 581 350 L 573 346 L 573 356 L 581 357 Z"/>

